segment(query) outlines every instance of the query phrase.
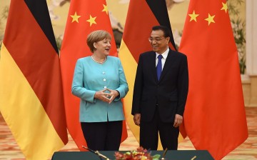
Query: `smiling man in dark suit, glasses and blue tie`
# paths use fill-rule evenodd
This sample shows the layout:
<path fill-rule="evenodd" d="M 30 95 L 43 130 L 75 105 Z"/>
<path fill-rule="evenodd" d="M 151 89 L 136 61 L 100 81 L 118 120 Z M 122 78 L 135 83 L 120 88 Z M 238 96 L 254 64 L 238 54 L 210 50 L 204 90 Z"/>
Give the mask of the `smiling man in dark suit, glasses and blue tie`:
<path fill-rule="evenodd" d="M 131 114 L 140 126 L 140 146 L 156 150 L 159 132 L 163 149 L 176 150 L 188 94 L 187 58 L 168 48 L 166 26 L 153 26 L 148 40 L 153 51 L 139 56 Z"/>

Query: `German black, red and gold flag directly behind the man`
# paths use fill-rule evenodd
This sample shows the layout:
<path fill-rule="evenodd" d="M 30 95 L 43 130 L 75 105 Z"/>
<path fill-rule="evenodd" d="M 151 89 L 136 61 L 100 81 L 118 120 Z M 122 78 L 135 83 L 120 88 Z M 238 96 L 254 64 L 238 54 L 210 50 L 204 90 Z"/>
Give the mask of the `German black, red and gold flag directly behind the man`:
<path fill-rule="evenodd" d="M 129 92 L 124 98 L 126 121 L 137 141 L 139 141 L 139 127 L 134 124 L 133 116 L 131 115 L 136 67 L 139 55 L 145 51 L 152 50 L 148 37 L 151 34 L 151 28 L 158 25 L 167 26 L 171 31 L 165 0 L 131 0 L 129 2 L 119 57 L 129 84 Z M 169 47 L 176 50 L 172 31 Z M 161 149 L 160 144 L 158 149 Z"/>

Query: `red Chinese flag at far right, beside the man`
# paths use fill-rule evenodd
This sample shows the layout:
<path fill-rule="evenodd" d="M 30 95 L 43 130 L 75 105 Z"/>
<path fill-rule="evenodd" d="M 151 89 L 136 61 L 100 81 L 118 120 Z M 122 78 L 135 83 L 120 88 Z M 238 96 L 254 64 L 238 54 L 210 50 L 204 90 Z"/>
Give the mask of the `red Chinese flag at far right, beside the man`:
<path fill-rule="evenodd" d="M 188 56 L 183 136 L 222 159 L 248 137 L 238 52 L 225 0 L 191 0 L 179 51 Z M 182 127 L 181 127 L 182 128 Z"/>

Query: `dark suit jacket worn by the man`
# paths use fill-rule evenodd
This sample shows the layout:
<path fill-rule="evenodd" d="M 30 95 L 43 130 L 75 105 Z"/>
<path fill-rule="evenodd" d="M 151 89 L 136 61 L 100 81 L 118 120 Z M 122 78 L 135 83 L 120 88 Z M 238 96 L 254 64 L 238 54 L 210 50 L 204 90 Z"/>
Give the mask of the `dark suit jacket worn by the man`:
<path fill-rule="evenodd" d="M 141 114 L 141 121 L 151 121 L 157 107 L 161 121 L 173 123 L 175 114 L 183 116 L 187 94 L 186 55 L 169 49 L 159 81 L 156 52 L 148 51 L 139 56 L 131 114 Z"/>

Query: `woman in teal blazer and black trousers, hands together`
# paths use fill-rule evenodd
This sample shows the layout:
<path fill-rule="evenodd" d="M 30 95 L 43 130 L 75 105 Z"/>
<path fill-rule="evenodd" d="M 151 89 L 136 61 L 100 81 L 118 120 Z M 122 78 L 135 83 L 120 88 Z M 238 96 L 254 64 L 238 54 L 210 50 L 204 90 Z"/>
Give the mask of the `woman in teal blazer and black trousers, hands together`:
<path fill-rule="evenodd" d="M 118 151 L 124 111 L 121 99 L 129 91 L 119 58 L 109 56 L 111 35 L 93 31 L 87 38 L 92 56 L 78 59 L 72 94 L 80 101 L 79 120 L 90 149 Z"/>

